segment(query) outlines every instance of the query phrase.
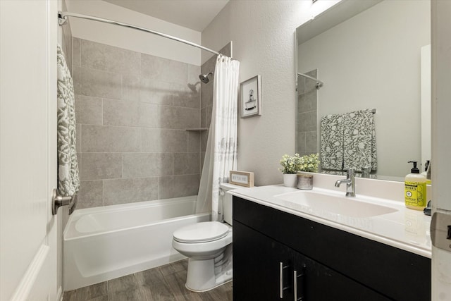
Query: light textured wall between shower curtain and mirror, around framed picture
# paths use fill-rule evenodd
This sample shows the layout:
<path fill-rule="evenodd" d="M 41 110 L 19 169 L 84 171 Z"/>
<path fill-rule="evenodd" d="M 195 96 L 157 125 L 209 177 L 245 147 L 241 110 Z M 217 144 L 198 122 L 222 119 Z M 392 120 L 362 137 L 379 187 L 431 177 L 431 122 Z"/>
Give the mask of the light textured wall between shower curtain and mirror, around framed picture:
<path fill-rule="evenodd" d="M 335 2 L 230 1 L 202 32 L 212 49 L 233 41 L 240 82 L 261 75 L 263 114 L 238 121 L 238 169 L 256 185 L 282 183 L 278 161 L 295 152 L 296 27 Z"/>

